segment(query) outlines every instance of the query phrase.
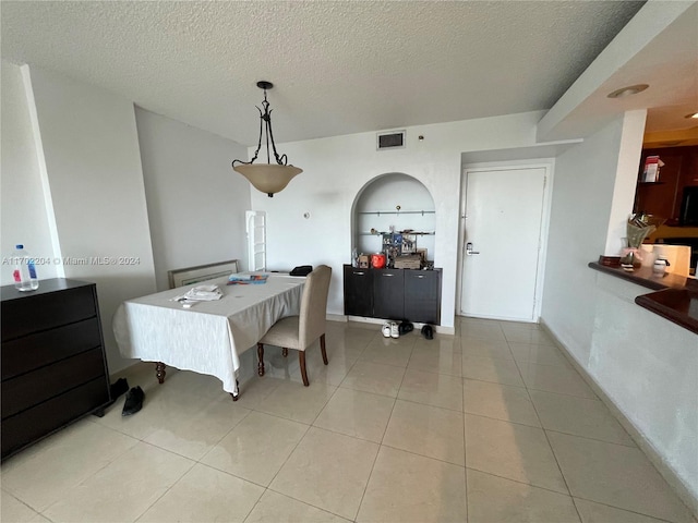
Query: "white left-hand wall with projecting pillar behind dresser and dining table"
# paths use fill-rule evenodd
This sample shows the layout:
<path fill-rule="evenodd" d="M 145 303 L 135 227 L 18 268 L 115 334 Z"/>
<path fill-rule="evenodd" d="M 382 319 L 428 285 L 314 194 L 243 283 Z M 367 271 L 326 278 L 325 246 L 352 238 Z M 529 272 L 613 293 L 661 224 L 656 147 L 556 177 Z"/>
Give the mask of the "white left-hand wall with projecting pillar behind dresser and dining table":
<path fill-rule="evenodd" d="M 111 330 L 124 300 L 155 292 L 156 275 L 167 287 L 169 269 L 245 259 L 250 188 L 230 168 L 245 149 L 142 110 L 140 136 L 130 100 L 28 65 L 2 68 L 2 255 L 24 242 L 51 260 L 39 279 L 97 283 L 116 373 L 133 363 Z M 9 267 L 2 278 L 12 282 Z"/>

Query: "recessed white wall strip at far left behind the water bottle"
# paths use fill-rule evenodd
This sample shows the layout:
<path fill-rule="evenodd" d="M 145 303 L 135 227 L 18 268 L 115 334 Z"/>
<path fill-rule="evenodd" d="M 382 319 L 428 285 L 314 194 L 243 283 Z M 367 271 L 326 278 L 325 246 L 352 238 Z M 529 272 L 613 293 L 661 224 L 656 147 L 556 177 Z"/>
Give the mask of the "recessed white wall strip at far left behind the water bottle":
<path fill-rule="evenodd" d="M 12 265 L 9 258 L 17 243 L 37 258 L 40 279 L 56 278 L 49 215 L 44 202 L 44 186 L 37 155 L 27 92 L 22 69 L 2 60 L 0 88 L 2 126 L 0 151 L 0 281 L 10 285 Z M 31 87 L 31 86 L 29 86 Z M 31 93 L 29 93 L 31 96 Z M 48 260 L 51 263 L 40 263 Z"/>

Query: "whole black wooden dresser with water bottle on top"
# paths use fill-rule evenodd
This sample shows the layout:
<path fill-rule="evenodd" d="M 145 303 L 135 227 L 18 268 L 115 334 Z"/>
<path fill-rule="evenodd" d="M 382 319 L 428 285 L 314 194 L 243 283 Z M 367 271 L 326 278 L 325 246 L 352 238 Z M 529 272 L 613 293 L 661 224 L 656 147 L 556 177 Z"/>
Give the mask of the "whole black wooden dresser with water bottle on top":
<path fill-rule="evenodd" d="M 55 278 L 0 288 L 2 459 L 110 402 L 97 289 Z"/>

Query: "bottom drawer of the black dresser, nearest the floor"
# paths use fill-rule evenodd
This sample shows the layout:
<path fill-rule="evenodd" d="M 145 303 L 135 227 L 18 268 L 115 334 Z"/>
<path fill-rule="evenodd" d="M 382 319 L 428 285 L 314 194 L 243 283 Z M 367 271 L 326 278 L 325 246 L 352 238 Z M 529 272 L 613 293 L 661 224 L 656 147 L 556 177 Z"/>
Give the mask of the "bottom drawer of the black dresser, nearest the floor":
<path fill-rule="evenodd" d="M 109 401 L 104 378 L 93 379 L 33 409 L 2 421 L 2 458 L 48 436 Z"/>

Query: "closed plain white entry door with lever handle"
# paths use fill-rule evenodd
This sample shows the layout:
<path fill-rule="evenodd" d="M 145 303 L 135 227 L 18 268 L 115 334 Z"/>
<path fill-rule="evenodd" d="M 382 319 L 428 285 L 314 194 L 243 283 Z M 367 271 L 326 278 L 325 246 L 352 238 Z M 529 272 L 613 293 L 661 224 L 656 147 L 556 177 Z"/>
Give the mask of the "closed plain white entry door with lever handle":
<path fill-rule="evenodd" d="M 537 321 L 537 283 L 547 169 L 465 173 L 460 314 Z"/>

